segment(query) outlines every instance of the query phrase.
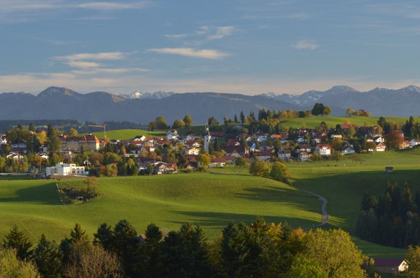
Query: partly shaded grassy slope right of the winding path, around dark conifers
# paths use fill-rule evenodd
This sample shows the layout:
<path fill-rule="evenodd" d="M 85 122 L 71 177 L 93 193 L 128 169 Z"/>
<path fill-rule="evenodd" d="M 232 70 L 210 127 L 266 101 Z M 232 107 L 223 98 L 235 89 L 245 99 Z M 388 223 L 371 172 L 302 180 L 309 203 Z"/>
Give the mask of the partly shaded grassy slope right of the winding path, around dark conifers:
<path fill-rule="evenodd" d="M 338 162 L 288 165 L 294 186 L 311 190 L 328 199 L 331 226 L 343 228 L 352 234 L 365 192 L 379 196 L 385 191 L 388 181 L 397 181 L 399 186 L 407 182 L 413 191 L 420 190 L 420 149 L 366 154 L 361 157 L 365 159 L 362 165 L 356 165 L 348 158 Z M 385 166 L 393 166 L 394 173 L 385 173 Z M 403 249 L 385 248 L 357 238 L 355 240 L 368 254 L 401 257 L 405 253 Z"/>

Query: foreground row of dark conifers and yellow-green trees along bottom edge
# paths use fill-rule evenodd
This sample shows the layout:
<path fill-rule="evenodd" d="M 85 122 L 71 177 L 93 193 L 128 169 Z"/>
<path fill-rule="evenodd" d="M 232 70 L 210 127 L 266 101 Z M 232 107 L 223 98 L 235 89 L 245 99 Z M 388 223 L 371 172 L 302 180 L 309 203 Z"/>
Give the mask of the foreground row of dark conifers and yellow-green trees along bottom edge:
<path fill-rule="evenodd" d="M 57 244 L 33 245 L 14 226 L 0 248 L 1 277 L 366 277 L 368 261 L 343 230 L 292 229 L 258 217 L 229 223 L 215 241 L 183 224 L 143 235 L 126 220 L 102 224 L 93 240 L 79 224 Z"/>

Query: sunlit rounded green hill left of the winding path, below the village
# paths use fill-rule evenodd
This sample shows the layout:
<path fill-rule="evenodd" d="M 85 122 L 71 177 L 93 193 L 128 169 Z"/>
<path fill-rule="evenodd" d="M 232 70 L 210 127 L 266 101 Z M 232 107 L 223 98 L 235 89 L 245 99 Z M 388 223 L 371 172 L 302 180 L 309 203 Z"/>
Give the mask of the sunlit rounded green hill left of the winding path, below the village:
<path fill-rule="evenodd" d="M 228 221 L 249 222 L 255 215 L 292 226 L 310 226 L 321 219 L 316 198 L 284 183 L 245 175 L 102 178 L 99 192 L 89 203 L 61 205 L 54 181 L 0 180 L 0 236 L 17 224 L 32 239 L 42 232 L 61 239 L 75 222 L 92 235 L 103 222 L 128 219 L 139 232 L 151 222 L 169 230 L 189 221 L 216 238 Z"/>

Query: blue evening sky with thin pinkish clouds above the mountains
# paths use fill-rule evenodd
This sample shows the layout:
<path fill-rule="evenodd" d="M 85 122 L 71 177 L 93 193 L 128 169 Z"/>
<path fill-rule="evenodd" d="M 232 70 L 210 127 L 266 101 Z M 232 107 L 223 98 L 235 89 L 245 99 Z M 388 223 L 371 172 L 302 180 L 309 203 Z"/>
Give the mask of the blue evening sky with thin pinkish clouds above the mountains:
<path fill-rule="evenodd" d="M 418 1 L 0 0 L 0 92 L 420 84 Z"/>

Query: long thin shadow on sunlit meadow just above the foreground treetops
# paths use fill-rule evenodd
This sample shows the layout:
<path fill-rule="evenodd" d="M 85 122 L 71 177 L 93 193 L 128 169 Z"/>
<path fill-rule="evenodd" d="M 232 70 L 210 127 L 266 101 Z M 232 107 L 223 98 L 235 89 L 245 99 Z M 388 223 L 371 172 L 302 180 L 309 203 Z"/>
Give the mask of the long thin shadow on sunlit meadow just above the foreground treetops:
<path fill-rule="evenodd" d="M 254 221 L 257 217 L 257 215 L 246 215 L 246 214 L 239 214 L 239 213 L 226 213 L 226 212 L 187 212 L 187 211 L 172 211 L 174 213 L 177 213 L 179 215 L 185 215 L 191 220 L 189 222 L 202 226 L 202 227 L 212 227 L 212 226 L 227 226 L 229 222 L 244 222 L 246 224 L 249 224 L 251 221 Z M 273 217 L 268 215 L 260 215 L 265 219 L 267 222 L 274 222 L 276 224 L 282 222 L 282 223 L 289 223 L 292 226 L 299 226 L 299 224 L 302 224 L 303 222 L 307 226 L 312 226 L 314 224 L 318 224 L 318 221 L 312 221 L 309 219 L 298 219 L 298 218 L 292 218 L 292 217 Z M 321 220 L 321 219 L 320 219 Z M 186 221 L 170 221 L 171 223 L 176 224 L 184 224 Z"/>

